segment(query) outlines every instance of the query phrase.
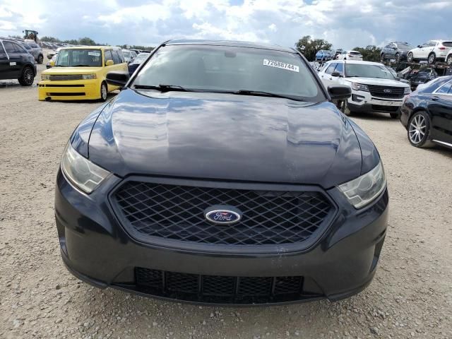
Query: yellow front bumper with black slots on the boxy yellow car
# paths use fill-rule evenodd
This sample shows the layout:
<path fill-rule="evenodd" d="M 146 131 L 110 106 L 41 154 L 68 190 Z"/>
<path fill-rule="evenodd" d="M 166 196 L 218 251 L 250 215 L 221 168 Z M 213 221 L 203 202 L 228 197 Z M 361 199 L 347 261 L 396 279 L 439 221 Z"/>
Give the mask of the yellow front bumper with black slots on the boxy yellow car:
<path fill-rule="evenodd" d="M 102 80 L 48 81 L 37 84 L 39 100 L 97 100 Z"/>

